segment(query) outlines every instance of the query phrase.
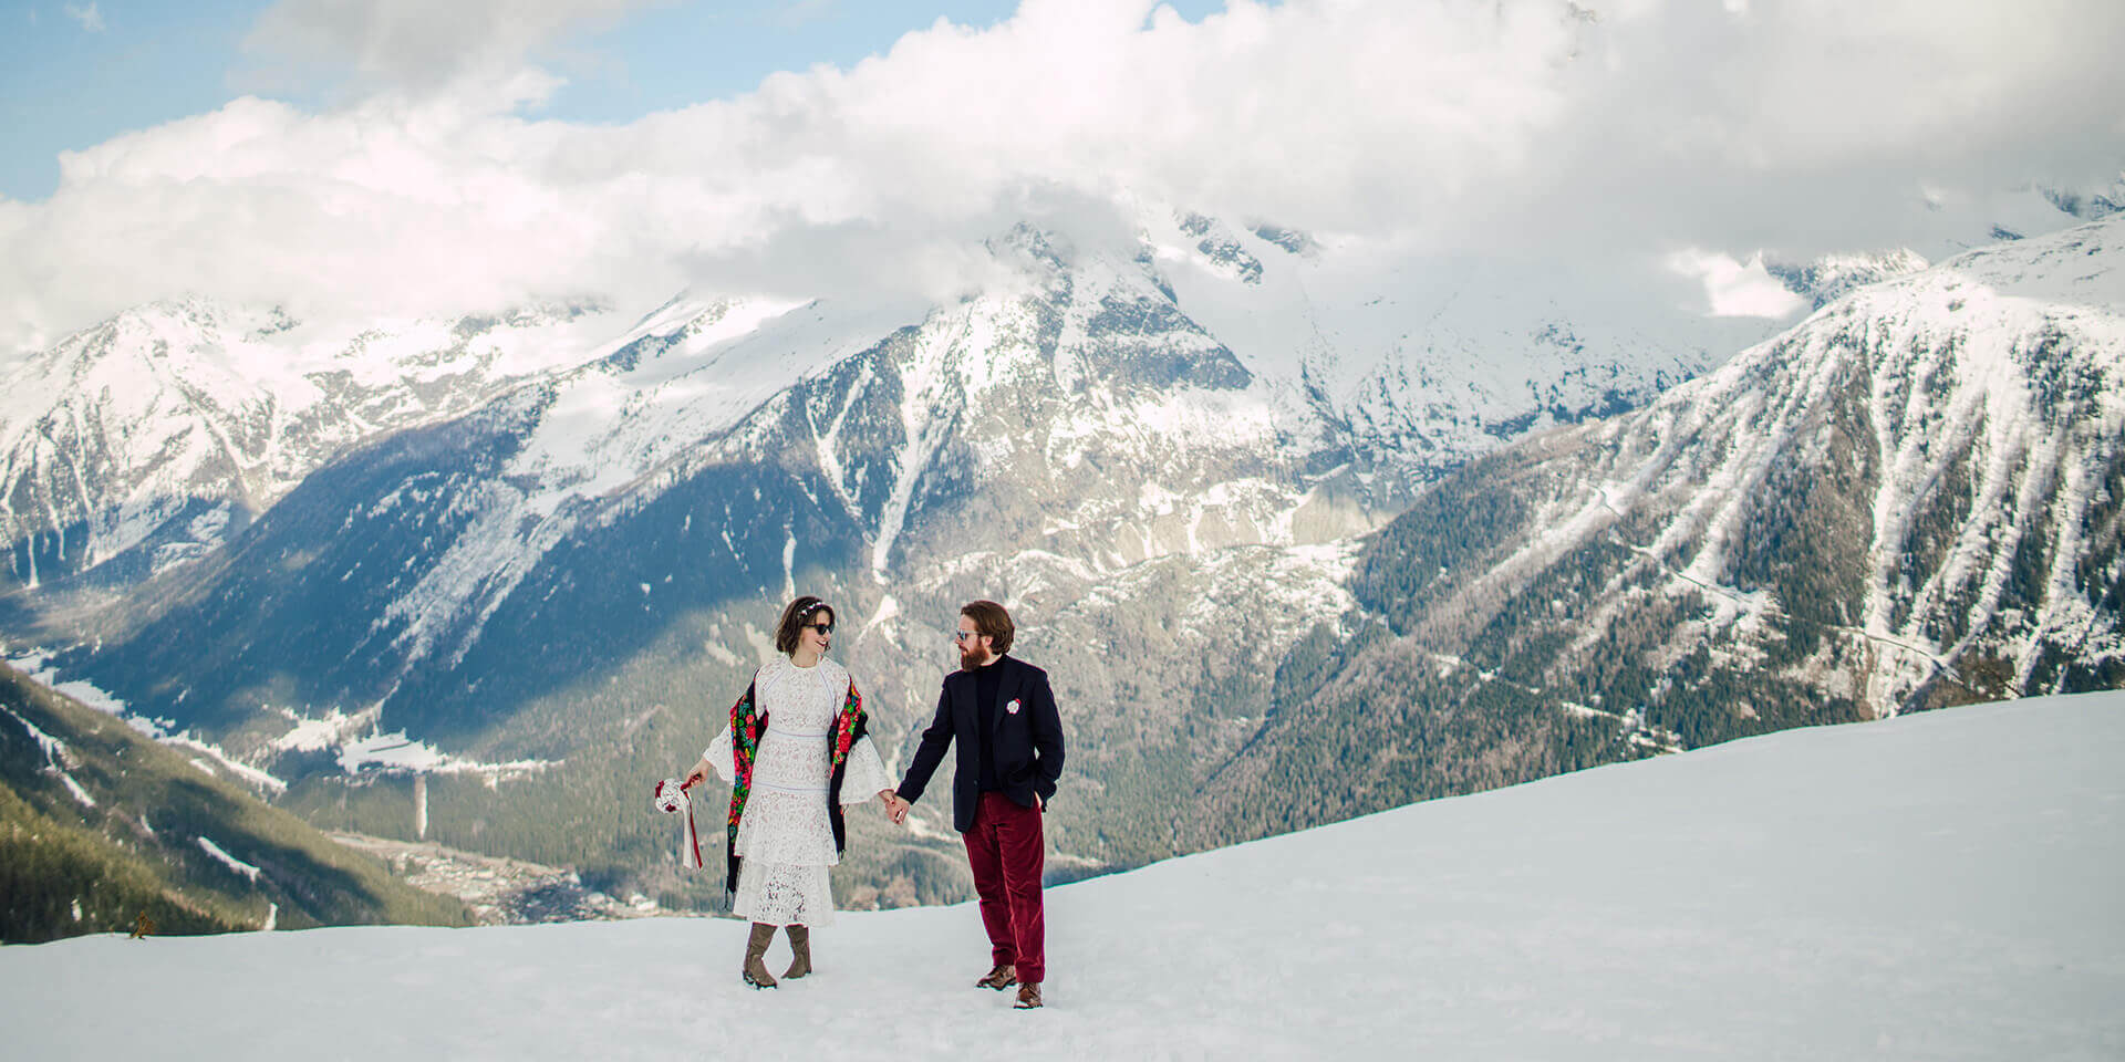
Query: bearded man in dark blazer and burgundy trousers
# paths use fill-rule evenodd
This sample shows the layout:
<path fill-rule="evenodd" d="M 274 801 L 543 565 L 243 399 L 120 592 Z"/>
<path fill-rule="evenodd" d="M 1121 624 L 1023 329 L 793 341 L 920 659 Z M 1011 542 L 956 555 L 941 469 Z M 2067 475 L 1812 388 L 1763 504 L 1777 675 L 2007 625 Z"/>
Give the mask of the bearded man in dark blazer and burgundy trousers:
<path fill-rule="evenodd" d="M 988 971 L 975 988 L 1018 986 L 1018 1009 L 1041 1005 L 1048 975 L 1041 922 L 1041 813 L 1062 775 L 1062 718 L 1048 671 L 1012 652 L 1012 614 L 994 601 L 958 610 L 958 671 L 946 675 L 937 718 L 922 731 L 892 822 L 922 799 L 944 748 L 958 739 L 952 773 L 952 824 L 967 841 L 973 890 L 988 930 Z"/>

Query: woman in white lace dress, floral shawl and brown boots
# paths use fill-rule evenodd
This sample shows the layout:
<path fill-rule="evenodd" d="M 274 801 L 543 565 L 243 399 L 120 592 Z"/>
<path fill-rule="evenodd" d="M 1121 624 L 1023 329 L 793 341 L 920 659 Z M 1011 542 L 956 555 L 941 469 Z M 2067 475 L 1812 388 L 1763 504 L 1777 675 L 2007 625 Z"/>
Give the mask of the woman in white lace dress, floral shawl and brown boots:
<path fill-rule="evenodd" d="M 744 962 L 752 988 L 776 988 L 763 962 L 776 926 L 788 928 L 793 954 L 782 977 L 812 973 L 812 928 L 833 922 L 827 867 L 842 862 L 842 807 L 876 796 L 892 809 L 863 697 L 827 658 L 833 620 L 833 607 L 810 595 L 782 610 L 782 658 L 761 665 L 731 705 L 731 724 L 686 773 L 688 788 L 710 771 L 731 784 L 725 888 L 731 911 L 752 920 Z"/>

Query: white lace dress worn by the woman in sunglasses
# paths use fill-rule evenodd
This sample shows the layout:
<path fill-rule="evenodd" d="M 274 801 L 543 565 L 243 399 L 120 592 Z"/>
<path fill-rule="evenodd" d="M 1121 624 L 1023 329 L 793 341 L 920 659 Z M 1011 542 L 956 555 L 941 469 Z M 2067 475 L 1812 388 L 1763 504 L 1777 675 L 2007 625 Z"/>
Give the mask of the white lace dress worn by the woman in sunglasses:
<path fill-rule="evenodd" d="M 848 697 L 848 669 L 820 658 L 797 667 L 786 656 L 769 661 L 752 675 L 754 709 L 767 716 L 767 733 L 752 758 L 752 792 L 737 820 L 737 898 L 731 913 L 771 926 L 827 926 L 833 922 L 833 888 L 827 867 L 842 862 L 827 822 L 827 735 Z M 733 782 L 731 729 L 725 726 L 708 752 L 710 767 Z M 850 746 L 842 773 L 842 805 L 878 799 L 892 788 L 886 765 L 871 739 Z"/>

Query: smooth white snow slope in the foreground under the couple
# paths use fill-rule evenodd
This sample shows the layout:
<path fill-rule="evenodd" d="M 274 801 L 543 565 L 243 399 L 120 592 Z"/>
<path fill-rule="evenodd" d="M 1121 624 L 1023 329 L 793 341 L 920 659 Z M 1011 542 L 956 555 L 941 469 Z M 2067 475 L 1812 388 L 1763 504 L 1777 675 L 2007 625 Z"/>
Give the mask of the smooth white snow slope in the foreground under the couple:
<path fill-rule="evenodd" d="M 81 937 L 0 947 L 0 1024 L 19 1058 L 2112 1060 L 2121 767 L 2125 692 L 2053 697 L 1177 858 L 1048 892 L 1035 1013 L 971 988 L 960 905 L 848 913 L 776 992 L 729 920 Z"/>

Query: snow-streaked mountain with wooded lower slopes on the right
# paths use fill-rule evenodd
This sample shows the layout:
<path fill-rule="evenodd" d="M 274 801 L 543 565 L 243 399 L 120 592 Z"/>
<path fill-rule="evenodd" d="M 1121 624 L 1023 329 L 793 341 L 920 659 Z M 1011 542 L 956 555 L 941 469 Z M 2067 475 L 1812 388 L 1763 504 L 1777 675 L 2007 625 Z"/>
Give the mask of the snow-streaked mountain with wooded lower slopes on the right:
<path fill-rule="evenodd" d="M 1177 824 L 2125 686 L 2121 499 L 2125 217 L 1857 289 L 1424 493 L 1354 561 L 1358 629 L 1279 701 L 1305 714 Z M 1262 799 L 1322 763 L 1328 792 Z"/>

